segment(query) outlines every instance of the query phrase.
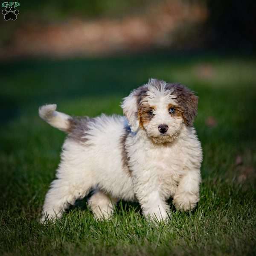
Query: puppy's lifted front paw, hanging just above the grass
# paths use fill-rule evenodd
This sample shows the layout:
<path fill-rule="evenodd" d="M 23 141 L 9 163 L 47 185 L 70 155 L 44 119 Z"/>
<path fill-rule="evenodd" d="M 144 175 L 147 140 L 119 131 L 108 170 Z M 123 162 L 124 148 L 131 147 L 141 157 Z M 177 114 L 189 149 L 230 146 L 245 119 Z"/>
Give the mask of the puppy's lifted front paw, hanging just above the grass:
<path fill-rule="evenodd" d="M 180 211 L 191 211 L 196 207 L 199 196 L 191 193 L 177 194 L 174 196 L 172 203 Z"/>

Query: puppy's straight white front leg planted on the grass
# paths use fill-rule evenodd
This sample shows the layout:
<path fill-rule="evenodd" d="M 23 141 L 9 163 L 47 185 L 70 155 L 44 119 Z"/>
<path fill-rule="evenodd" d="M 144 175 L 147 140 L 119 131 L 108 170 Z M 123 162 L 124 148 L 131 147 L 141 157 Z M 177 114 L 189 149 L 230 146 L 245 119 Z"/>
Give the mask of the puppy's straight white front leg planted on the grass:
<path fill-rule="evenodd" d="M 157 187 L 140 187 L 136 195 L 145 217 L 157 218 L 157 220 L 168 218 L 169 206 L 166 204 L 163 196 L 160 195 Z"/>

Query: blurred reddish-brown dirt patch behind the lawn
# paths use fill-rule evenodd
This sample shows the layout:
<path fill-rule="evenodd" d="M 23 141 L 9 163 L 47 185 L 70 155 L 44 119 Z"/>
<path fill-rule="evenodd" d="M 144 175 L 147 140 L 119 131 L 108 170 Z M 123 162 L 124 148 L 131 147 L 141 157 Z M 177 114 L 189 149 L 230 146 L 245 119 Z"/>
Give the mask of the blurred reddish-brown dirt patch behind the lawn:
<path fill-rule="evenodd" d="M 142 15 L 118 19 L 70 19 L 64 23 L 24 23 L 15 29 L 0 59 L 27 56 L 91 56 L 151 48 L 186 48 L 200 44 L 198 27 L 207 20 L 198 3 L 169 1 Z"/>

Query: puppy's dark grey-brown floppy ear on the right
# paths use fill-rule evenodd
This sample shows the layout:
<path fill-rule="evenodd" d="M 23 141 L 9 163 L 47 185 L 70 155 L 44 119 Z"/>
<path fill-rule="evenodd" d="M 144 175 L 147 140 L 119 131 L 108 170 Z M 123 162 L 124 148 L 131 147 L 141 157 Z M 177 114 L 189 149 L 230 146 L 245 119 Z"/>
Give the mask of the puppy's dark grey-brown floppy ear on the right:
<path fill-rule="evenodd" d="M 177 103 L 187 126 L 193 126 L 198 111 L 198 96 L 182 84 L 170 84 L 176 94 Z"/>

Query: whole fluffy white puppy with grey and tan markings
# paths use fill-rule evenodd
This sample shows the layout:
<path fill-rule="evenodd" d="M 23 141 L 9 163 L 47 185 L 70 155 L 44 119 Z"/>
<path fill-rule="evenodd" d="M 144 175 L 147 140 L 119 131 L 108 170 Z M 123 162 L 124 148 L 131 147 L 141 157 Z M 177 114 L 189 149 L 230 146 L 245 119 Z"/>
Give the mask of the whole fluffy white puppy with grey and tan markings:
<path fill-rule="evenodd" d="M 149 219 L 199 201 L 201 143 L 193 128 L 198 97 L 182 84 L 150 79 L 124 98 L 125 116 L 71 117 L 44 105 L 39 115 L 67 138 L 41 221 L 60 218 L 92 189 L 95 218 L 109 218 L 120 199 L 138 201 Z"/>

